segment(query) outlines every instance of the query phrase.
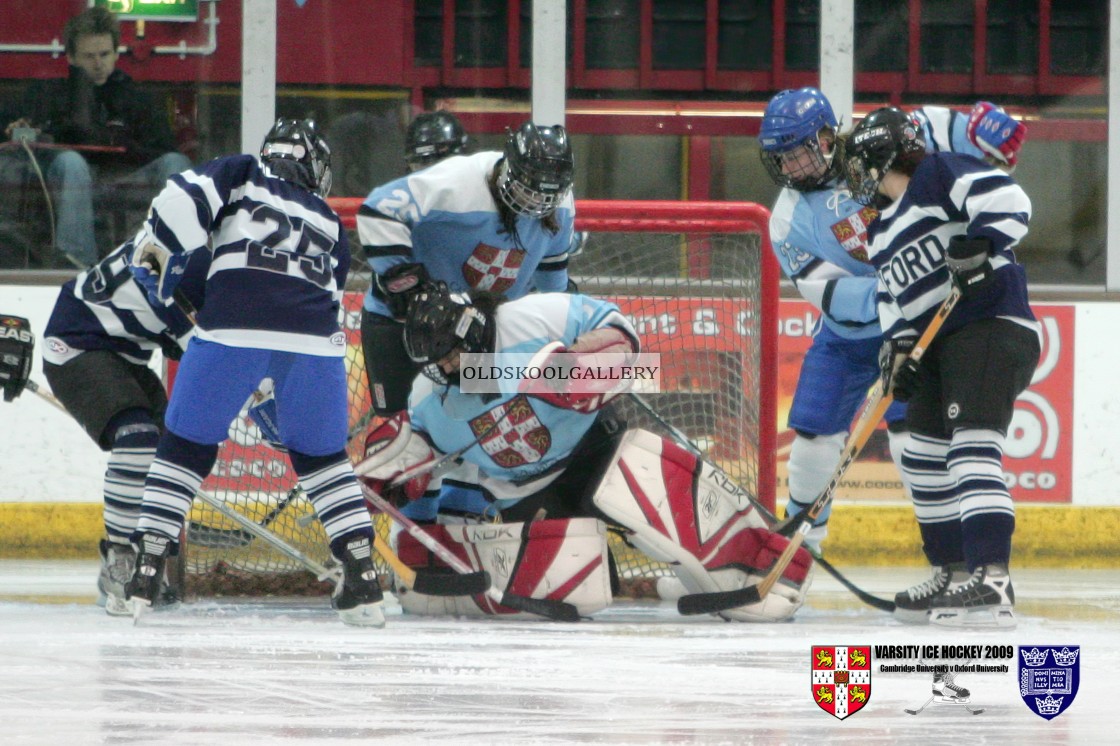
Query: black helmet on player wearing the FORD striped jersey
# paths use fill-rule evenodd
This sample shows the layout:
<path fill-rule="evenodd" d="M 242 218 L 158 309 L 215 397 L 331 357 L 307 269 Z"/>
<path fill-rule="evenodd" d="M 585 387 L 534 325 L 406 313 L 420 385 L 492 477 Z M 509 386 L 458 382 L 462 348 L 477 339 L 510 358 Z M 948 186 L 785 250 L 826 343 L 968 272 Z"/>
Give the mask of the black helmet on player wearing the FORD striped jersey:
<path fill-rule="evenodd" d="M 844 176 L 852 198 L 876 204 L 886 172 L 907 168 L 924 156 L 922 128 L 913 116 L 895 106 L 876 109 L 856 125 L 844 146 Z"/>

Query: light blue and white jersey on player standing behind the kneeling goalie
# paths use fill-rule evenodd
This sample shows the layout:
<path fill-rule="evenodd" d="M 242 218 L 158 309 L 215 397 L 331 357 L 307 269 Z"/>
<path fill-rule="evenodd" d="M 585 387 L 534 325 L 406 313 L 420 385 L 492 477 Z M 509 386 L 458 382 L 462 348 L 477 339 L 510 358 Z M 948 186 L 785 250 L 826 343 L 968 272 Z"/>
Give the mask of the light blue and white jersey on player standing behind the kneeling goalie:
<path fill-rule="evenodd" d="M 571 193 L 557 208 L 557 233 L 519 215 L 514 234 L 500 218 L 488 179 L 501 152 L 452 156 L 375 188 L 357 214 L 357 234 L 374 272 L 419 262 L 454 291 L 492 290 L 520 298 L 568 287 L 576 208 Z M 375 295 L 366 310 L 389 316 Z"/>

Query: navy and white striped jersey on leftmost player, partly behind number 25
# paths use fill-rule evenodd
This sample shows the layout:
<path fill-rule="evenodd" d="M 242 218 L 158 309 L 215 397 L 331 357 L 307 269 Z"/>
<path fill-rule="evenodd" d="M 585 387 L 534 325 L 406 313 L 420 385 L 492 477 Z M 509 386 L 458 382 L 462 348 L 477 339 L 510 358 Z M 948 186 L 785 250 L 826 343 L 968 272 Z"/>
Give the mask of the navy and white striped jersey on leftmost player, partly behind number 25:
<path fill-rule="evenodd" d="M 66 282 L 44 333 L 43 358 L 62 365 L 86 349 L 105 349 L 146 365 L 165 344 L 187 346 L 194 326 L 180 309 L 152 305 L 129 270 L 132 242 Z M 203 305 L 208 257 L 186 264 L 179 291 L 193 306 Z"/>

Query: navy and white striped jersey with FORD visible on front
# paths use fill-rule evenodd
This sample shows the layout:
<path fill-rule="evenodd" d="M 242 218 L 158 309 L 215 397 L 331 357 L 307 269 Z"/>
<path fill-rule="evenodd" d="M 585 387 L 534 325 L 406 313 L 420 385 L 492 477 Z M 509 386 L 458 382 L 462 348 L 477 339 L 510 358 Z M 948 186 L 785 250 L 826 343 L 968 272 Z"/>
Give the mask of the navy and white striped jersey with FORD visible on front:
<path fill-rule="evenodd" d="M 928 325 L 949 295 L 945 252 L 953 236 L 991 241 L 995 280 L 982 296 L 961 300 L 943 333 L 996 317 L 1039 330 L 1014 252 L 1029 221 L 1030 199 L 1002 170 L 971 156 L 926 156 L 905 194 L 868 229 L 884 334 L 917 336 Z"/>

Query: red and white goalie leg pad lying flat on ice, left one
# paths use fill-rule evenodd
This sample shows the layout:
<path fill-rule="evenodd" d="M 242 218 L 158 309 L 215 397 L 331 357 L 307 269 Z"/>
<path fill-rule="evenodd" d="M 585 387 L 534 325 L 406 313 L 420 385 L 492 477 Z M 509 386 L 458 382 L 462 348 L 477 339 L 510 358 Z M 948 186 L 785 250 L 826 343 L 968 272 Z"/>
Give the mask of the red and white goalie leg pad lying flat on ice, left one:
<path fill-rule="evenodd" d="M 575 605 L 581 616 L 610 605 L 607 534 L 601 521 L 580 517 L 423 528 L 473 570 L 489 572 L 501 590 L 563 600 Z M 405 565 L 417 569 L 445 567 L 410 534 L 400 533 L 398 541 L 398 553 Z M 405 589 L 395 579 L 394 590 L 401 607 L 410 614 L 532 616 L 501 606 L 485 595 L 427 596 Z"/>

